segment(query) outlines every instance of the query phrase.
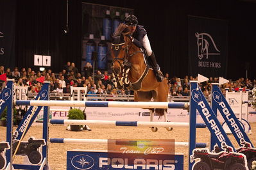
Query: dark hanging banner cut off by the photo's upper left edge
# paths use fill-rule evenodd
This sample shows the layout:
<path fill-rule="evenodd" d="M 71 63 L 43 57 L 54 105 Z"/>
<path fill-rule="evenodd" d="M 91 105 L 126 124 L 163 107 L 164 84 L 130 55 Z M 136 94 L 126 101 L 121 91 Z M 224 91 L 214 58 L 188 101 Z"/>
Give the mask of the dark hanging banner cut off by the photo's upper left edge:
<path fill-rule="evenodd" d="M 16 1 L 0 1 L 0 65 L 15 66 Z"/>

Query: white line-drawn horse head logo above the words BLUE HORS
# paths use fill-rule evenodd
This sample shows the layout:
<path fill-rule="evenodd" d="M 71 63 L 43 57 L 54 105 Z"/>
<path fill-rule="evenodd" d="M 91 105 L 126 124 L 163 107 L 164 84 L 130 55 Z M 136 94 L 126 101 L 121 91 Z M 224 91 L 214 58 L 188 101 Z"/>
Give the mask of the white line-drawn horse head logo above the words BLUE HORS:
<path fill-rule="evenodd" d="M 220 55 L 220 51 L 219 49 L 216 47 L 216 44 L 212 38 L 212 36 L 210 36 L 207 33 L 195 33 L 196 38 L 198 38 L 197 40 L 197 44 L 198 44 L 198 58 L 199 59 L 203 59 L 204 56 L 206 56 L 206 58 L 208 59 L 209 55 Z M 210 44 L 213 45 L 215 52 L 209 52 L 209 41 L 210 40 Z"/>

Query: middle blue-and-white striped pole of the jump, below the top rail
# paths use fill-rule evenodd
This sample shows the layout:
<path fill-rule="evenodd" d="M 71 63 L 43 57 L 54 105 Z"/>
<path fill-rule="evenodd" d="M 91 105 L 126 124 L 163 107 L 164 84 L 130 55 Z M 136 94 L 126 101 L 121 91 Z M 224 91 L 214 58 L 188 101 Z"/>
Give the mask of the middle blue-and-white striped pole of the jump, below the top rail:
<path fill-rule="evenodd" d="M 157 121 L 50 120 L 50 123 L 60 125 L 112 125 L 116 127 L 189 127 L 189 123 Z M 206 128 L 206 125 L 205 123 L 196 123 L 196 128 Z"/>

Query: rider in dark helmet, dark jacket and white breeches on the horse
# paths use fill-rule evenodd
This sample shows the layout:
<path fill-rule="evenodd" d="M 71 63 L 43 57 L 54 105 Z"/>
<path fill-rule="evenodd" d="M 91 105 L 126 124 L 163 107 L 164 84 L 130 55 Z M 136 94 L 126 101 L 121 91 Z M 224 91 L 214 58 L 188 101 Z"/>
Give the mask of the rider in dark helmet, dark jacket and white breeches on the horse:
<path fill-rule="evenodd" d="M 147 32 L 143 26 L 137 25 L 138 19 L 134 15 L 128 15 L 125 18 L 125 24 L 128 26 L 129 31 L 132 33 L 130 40 L 139 48 L 144 47 L 146 49 L 147 55 L 151 59 L 153 64 L 153 70 L 158 82 L 164 80 L 164 76 L 157 69 L 157 60 L 155 59 L 155 54 L 151 50 L 150 43 L 148 40 Z"/>

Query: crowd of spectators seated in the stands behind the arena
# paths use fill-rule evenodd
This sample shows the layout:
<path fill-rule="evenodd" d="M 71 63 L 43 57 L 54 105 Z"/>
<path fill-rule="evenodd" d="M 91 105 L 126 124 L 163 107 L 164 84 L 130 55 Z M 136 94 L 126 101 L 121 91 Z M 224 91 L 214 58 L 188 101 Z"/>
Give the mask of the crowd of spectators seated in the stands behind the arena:
<path fill-rule="evenodd" d="M 133 91 L 128 89 L 116 89 L 112 82 L 112 76 L 107 71 L 101 73 L 97 70 L 94 77 L 92 77 L 92 65 L 86 63 L 83 68 L 83 72 L 79 72 L 74 63 L 67 62 L 64 65 L 63 70 L 58 73 L 53 73 L 51 69 L 44 70 L 42 72 L 31 70 L 31 68 L 19 68 L 15 67 L 13 70 L 10 68 L 4 69 L 4 66 L 0 66 L 0 75 L 6 73 L 8 79 L 15 79 L 15 86 L 28 86 L 28 95 L 37 95 L 40 91 L 42 84 L 36 79 L 45 77 L 45 81 L 50 82 L 50 91 L 53 93 L 71 93 L 71 86 L 74 87 L 87 87 L 87 93 L 90 95 L 106 94 L 113 97 L 119 97 L 122 95 L 132 95 Z M 183 79 L 179 77 L 169 77 L 169 74 L 165 74 L 168 80 L 169 93 L 171 96 L 189 96 L 189 81 L 197 80 L 197 77 L 185 76 Z M 201 89 L 206 97 L 209 97 L 211 91 L 211 83 L 218 82 L 218 78 L 210 77 L 209 81 L 202 82 L 200 84 Z M 2 87 L 4 83 L 2 82 Z M 230 80 L 224 84 L 221 88 L 225 93 L 225 88 L 229 88 L 230 91 L 234 88 L 238 91 L 239 88 L 253 89 L 256 87 L 256 80 L 240 78 L 236 81 Z"/>

